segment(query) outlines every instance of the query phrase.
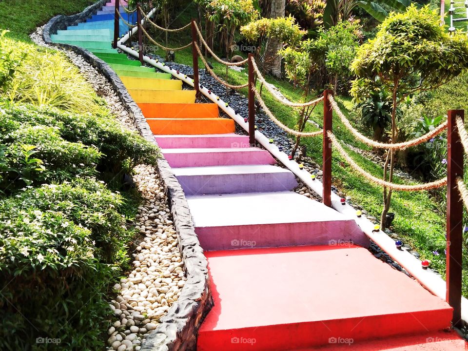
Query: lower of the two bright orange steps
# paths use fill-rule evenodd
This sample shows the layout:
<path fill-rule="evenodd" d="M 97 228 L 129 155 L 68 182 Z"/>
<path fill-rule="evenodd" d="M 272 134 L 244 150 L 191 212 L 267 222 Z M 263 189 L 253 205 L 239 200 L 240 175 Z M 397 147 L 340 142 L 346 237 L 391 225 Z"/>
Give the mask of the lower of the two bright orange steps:
<path fill-rule="evenodd" d="M 233 119 L 228 118 L 146 118 L 156 135 L 199 135 L 234 133 Z"/>

